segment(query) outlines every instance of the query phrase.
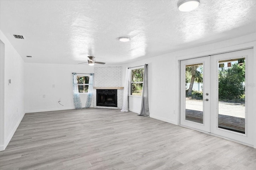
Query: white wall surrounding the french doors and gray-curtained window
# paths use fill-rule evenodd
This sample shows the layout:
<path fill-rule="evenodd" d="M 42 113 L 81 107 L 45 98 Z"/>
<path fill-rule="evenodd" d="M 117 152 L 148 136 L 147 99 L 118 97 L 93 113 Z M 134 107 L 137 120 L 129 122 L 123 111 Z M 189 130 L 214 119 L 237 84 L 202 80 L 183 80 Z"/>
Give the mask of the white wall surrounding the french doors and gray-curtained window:
<path fill-rule="evenodd" d="M 210 45 L 204 45 L 200 47 L 195 47 L 191 49 L 176 51 L 165 55 L 152 57 L 150 59 L 144 59 L 130 64 L 124 64 L 123 77 L 125 76 L 126 67 L 148 64 L 148 98 L 150 117 L 178 125 L 180 107 L 179 60 L 234 51 L 237 49 L 243 49 L 247 47 L 254 47 L 255 51 L 256 45 L 254 44 L 256 43 L 254 41 L 256 41 L 256 33 L 238 37 L 235 39 L 230 39 L 228 41 L 221 41 Z M 256 53 L 254 53 L 254 58 L 255 57 Z M 256 64 L 254 68 L 256 68 Z M 256 72 L 255 70 L 254 72 Z M 256 74 L 254 75 L 254 82 L 255 80 Z M 252 100 L 256 101 L 255 98 Z M 132 96 L 129 97 L 129 109 L 131 111 L 138 113 L 138 111 L 140 111 L 140 104 L 141 98 L 136 98 Z M 256 113 L 255 108 L 254 113 Z"/>

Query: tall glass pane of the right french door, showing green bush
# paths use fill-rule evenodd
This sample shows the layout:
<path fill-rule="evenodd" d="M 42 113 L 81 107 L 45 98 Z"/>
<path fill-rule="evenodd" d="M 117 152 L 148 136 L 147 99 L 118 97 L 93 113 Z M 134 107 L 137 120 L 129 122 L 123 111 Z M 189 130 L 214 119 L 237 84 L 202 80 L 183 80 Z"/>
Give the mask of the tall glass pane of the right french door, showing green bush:
<path fill-rule="evenodd" d="M 219 62 L 218 127 L 245 133 L 245 58 Z"/>

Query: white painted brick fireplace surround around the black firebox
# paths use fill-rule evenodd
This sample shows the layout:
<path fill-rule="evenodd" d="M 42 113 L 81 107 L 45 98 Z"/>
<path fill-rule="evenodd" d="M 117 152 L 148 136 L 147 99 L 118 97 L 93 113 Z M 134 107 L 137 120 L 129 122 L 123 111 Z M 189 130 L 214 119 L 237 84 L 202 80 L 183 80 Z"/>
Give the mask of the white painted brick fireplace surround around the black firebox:
<path fill-rule="evenodd" d="M 96 108 L 122 109 L 123 107 L 123 87 L 122 87 L 122 67 L 94 67 L 94 89 L 92 106 Z M 117 89 L 117 107 L 96 106 L 96 89 Z"/>

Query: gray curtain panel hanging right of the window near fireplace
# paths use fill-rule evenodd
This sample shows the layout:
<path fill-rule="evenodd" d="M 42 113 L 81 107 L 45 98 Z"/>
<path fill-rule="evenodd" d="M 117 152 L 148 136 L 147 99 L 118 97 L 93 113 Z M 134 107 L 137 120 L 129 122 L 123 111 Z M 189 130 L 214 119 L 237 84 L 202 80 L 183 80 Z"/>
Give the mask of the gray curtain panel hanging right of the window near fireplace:
<path fill-rule="evenodd" d="M 138 115 L 144 115 L 146 117 L 149 117 L 149 107 L 148 107 L 148 64 L 145 64 L 145 66 L 144 66 L 142 101 L 141 101 L 140 113 Z"/>

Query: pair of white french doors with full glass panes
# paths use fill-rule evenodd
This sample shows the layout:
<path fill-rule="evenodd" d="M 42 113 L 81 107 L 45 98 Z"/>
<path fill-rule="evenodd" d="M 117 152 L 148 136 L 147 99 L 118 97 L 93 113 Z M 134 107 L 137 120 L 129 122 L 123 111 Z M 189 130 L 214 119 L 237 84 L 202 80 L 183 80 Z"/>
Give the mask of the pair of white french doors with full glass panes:
<path fill-rule="evenodd" d="M 180 61 L 180 125 L 253 145 L 253 49 Z"/>

